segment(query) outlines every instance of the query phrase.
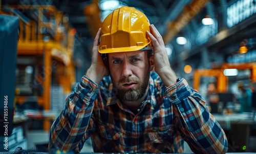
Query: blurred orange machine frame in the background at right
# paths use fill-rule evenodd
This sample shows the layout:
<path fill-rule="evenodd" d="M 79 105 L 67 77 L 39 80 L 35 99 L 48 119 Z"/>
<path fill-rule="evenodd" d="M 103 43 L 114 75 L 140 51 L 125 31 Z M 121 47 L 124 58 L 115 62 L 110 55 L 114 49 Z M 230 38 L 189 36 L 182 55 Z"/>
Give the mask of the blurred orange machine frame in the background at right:
<path fill-rule="evenodd" d="M 194 89 L 199 91 L 201 77 L 215 76 L 217 78 L 217 91 L 225 93 L 228 85 L 228 79 L 223 73 L 225 69 L 249 69 L 251 70 L 251 81 L 256 82 L 256 63 L 224 63 L 221 69 L 197 69 L 194 74 Z"/>

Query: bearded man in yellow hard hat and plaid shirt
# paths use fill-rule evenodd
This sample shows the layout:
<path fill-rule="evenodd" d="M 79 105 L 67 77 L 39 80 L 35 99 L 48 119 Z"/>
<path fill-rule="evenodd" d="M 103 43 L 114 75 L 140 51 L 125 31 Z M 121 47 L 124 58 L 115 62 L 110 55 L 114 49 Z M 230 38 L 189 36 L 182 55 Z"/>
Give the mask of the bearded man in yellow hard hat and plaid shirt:
<path fill-rule="evenodd" d="M 130 7 L 103 21 L 91 67 L 52 125 L 49 148 L 79 152 L 90 136 L 94 152 L 177 153 L 184 140 L 195 153 L 227 151 L 205 100 L 170 68 L 155 26 Z"/>

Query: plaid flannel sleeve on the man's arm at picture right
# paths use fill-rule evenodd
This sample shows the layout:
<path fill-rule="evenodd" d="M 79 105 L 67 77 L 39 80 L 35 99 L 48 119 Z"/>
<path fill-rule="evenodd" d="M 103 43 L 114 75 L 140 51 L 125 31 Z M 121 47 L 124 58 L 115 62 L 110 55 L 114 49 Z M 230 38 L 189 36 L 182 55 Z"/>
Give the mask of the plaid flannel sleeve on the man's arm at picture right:
<path fill-rule="evenodd" d="M 208 106 L 185 79 L 166 87 L 165 95 L 174 105 L 177 129 L 195 153 L 226 153 L 224 130 L 209 112 Z"/>

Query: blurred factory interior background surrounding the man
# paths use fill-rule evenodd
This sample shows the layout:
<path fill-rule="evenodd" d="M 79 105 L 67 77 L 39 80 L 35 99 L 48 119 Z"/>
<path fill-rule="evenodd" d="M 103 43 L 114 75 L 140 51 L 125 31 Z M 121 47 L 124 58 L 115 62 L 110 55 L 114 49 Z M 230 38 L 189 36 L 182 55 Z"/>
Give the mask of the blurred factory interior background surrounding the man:
<path fill-rule="evenodd" d="M 228 152 L 256 152 L 255 0 L 0 0 L 0 152 L 48 152 L 51 125 L 91 65 L 96 33 L 123 6 L 157 28 L 170 66 L 225 131 Z M 92 140 L 81 152 L 94 152 Z"/>

